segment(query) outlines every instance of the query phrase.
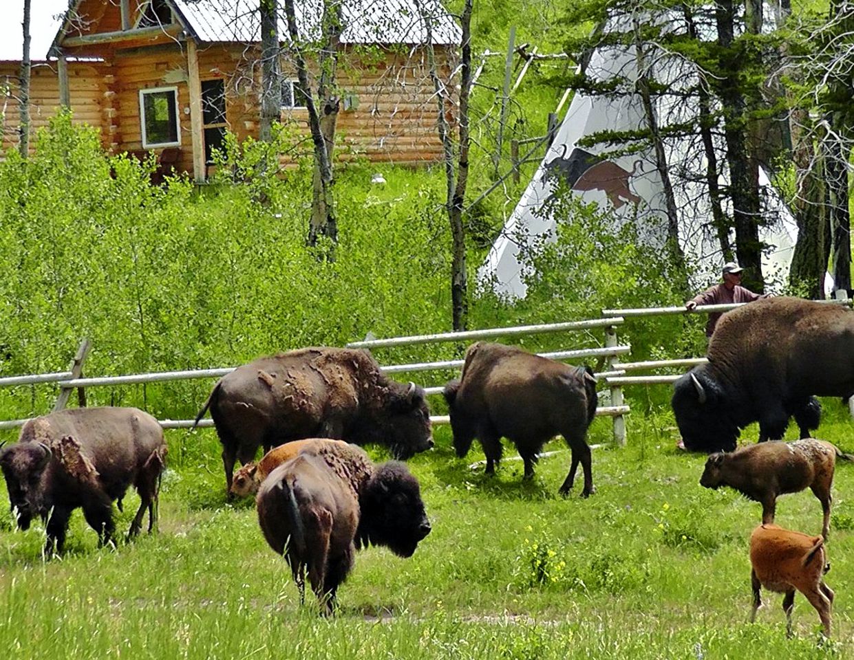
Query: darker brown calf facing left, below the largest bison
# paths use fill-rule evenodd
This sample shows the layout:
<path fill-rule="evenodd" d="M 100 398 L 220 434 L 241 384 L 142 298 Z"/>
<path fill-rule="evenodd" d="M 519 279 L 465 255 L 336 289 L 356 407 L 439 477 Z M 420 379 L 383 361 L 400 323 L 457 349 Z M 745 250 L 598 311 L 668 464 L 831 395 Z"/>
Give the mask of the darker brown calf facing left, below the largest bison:
<path fill-rule="evenodd" d="M 822 536 L 830 531 L 830 487 L 838 449 L 813 438 L 793 443 L 771 441 L 711 454 L 699 483 L 705 488 L 729 486 L 762 504 L 762 522 L 773 523 L 779 495 L 810 488 L 822 502 Z"/>

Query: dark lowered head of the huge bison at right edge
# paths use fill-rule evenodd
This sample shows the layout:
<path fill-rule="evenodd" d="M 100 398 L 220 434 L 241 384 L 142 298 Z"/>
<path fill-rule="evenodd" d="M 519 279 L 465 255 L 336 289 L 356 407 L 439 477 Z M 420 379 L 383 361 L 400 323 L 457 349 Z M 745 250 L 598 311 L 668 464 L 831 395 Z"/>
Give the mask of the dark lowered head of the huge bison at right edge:
<path fill-rule="evenodd" d="M 734 421 L 736 407 L 702 367 L 673 384 L 670 405 L 685 449 L 708 453 L 735 449 L 739 437 Z"/>

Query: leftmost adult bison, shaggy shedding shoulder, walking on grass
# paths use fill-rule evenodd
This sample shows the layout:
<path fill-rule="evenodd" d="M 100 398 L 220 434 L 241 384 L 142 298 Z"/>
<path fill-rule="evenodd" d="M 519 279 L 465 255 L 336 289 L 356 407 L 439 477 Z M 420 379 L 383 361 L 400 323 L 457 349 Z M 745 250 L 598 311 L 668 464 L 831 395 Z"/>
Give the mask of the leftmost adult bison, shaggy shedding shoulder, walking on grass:
<path fill-rule="evenodd" d="M 61 553 L 68 519 L 83 508 L 101 544 L 112 541 L 114 500 L 131 484 L 140 504 L 128 537 L 136 536 L 157 498 L 167 446 L 154 417 L 137 408 L 75 408 L 26 422 L 18 443 L 0 452 L 9 502 L 21 530 L 32 518 L 47 520 L 45 553 Z"/>

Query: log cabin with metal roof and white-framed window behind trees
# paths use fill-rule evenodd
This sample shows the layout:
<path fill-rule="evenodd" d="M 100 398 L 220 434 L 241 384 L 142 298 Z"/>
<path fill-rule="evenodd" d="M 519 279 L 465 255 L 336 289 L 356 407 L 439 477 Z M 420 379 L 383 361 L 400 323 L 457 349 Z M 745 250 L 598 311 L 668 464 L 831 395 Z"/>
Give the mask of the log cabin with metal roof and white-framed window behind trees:
<path fill-rule="evenodd" d="M 336 159 L 440 159 L 425 44 L 429 34 L 439 77 L 453 95 L 459 26 L 438 0 L 421 2 L 433 16 L 429 31 L 414 0 L 343 3 Z M 295 4 L 300 38 L 310 44 L 323 3 Z M 284 18 L 278 30 L 281 121 L 308 137 Z M 32 61 L 31 130 L 69 107 L 75 123 L 100 130 L 108 153 L 154 152 L 203 182 L 226 130 L 239 141 L 258 136 L 260 61 L 258 0 L 72 0 L 47 58 Z M 316 62 L 308 67 L 316 70 Z M 3 152 L 18 140 L 19 72 L 20 61 L 0 61 Z M 308 139 L 303 153 L 310 148 Z M 285 163 L 294 158 L 283 156 Z"/>

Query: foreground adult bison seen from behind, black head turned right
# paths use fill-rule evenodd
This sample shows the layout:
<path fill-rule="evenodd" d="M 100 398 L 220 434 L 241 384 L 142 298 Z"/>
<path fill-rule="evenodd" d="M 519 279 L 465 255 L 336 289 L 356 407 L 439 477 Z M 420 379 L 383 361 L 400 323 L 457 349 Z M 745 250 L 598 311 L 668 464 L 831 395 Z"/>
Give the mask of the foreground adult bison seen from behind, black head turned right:
<path fill-rule="evenodd" d="M 305 573 L 321 613 L 335 611 L 336 592 L 356 549 L 381 545 L 410 557 L 430 533 L 418 481 L 390 460 L 374 466 L 352 444 L 328 444 L 273 470 L 256 498 L 267 543 L 284 555 L 305 602 Z"/>

